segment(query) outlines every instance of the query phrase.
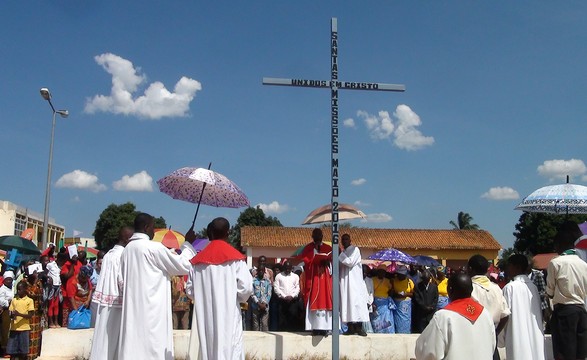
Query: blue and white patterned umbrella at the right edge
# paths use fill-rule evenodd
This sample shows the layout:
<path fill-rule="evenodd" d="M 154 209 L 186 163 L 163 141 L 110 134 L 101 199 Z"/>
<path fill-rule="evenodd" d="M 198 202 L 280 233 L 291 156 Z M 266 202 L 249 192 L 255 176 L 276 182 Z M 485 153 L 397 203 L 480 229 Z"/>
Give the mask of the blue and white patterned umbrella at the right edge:
<path fill-rule="evenodd" d="M 587 186 L 560 184 L 542 187 L 515 208 L 547 214 L 587 214 Z"/>

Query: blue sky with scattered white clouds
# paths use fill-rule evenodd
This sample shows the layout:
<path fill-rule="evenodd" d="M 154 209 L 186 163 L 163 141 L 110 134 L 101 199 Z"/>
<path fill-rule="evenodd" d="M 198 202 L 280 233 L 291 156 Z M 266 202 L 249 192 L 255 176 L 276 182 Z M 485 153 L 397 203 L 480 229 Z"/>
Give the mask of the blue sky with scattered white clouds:
<path fill-rule="evenodd" d="M 0 5 L 0 199 L 91 236 L 109 204 L 185 231 L 195 205 L 156 180 L 216 170 L 298 226 L 330 201 L 324 89 L 263 77 L 398 83 L 341 91 L 340 200 L 354 225 L 450 228 L 459 211 L 505 247 L 535 189 L 587 183 L 587 4 L 423 1 L 5 1 Z M 240 210 L 203 206 L 197 228 Z"/>

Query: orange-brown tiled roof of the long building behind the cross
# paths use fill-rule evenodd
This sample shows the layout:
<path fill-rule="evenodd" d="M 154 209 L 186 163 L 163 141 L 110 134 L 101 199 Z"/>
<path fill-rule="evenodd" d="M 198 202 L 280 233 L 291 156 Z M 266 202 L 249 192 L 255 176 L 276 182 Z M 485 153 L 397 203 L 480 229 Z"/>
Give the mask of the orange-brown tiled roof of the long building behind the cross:
<path fill-rule="evenodd" d="M 312 227 L 245 226 L 241 228 L 242 246 L 298 247 L 312 241 Z M 330 228 L 322 228 L 324 239 L 331 238 Z M 343 228 L 353 244 L 372 249 L 479 249 L 499 250 L 501 245 L 485 230 L 370 229 Z"/>

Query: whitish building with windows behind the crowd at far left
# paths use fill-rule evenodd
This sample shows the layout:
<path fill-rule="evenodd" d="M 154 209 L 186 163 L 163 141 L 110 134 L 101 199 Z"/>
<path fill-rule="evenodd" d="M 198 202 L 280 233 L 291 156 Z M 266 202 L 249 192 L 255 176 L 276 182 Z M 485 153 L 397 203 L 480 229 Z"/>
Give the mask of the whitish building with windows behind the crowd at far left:
<path fill-rule="evenodd" d="M 0 236 L 20 235 L 26 229 L 33 229 L 32 241 L 37 246 L 43 238 L 43 214 L 0 200 Z M 47 242 L 58 244 L 65 235 L 65 228 L 49 218 Z"/>

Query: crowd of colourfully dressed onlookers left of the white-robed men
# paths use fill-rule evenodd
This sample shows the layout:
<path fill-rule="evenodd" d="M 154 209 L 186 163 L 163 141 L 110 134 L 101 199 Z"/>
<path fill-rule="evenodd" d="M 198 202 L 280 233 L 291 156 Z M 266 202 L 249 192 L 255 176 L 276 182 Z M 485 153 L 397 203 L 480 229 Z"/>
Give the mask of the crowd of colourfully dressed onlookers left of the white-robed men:
<path fill-rule="evenodd" d="M 41 353 L 42 332 L 67 327 L 69 312 L 90 308 L 103 252 L 93 262 L 80 251 L 50 245 L 36 260 L 17 268 L 2 263 L 0 278 L 0 352 L 4 357 L 34 359 Z"/>

